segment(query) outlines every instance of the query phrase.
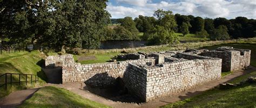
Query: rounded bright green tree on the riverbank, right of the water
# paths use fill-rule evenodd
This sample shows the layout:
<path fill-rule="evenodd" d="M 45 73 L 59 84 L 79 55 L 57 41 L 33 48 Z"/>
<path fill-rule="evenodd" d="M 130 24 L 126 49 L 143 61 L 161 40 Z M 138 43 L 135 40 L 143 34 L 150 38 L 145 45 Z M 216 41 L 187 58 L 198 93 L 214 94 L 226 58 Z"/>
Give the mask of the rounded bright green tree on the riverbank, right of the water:
<path fill-rule="evenodd" d="M 174 32 L 169 32 L 163 26 L 156 26 L 149 34 L 149 45 L 173 44 L 178 41 Z"/>

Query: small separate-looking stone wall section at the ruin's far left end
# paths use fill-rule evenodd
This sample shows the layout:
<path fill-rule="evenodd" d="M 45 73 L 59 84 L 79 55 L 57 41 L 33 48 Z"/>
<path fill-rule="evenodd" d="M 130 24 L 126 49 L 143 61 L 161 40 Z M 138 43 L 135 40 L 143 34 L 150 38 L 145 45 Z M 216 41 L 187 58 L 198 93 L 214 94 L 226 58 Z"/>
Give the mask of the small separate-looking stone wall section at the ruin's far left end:
<path fill-rule="evenodd" d="M 57 63 L 75 63 L 75 61 L 72 54 L 48 56 L 45 60 L 45 67 L 53 68 Z"/>

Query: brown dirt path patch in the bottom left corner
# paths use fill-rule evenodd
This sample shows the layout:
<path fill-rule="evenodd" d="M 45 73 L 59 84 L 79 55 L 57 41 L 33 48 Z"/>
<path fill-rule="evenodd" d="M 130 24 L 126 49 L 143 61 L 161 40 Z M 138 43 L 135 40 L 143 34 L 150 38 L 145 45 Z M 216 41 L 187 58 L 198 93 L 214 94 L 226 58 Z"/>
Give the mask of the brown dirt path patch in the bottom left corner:
<path fill-rule="evenodd" d="M 37 90 L 39 89 L 27 89 L 12 92 L 1 100 L 0 107 L 16 107 L 22 104 L 24 100 L 29 99 Z"/>

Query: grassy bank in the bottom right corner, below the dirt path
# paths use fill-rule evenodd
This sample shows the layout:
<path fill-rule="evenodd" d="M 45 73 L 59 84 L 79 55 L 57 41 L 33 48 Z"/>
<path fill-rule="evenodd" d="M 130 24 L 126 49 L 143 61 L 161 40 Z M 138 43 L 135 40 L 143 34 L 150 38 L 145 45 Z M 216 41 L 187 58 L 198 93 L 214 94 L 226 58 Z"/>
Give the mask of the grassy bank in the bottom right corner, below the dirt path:
<path fill-rule="evenodd" d="M 255 107 L 256 84 L 228 90 L 212 89 L 203 94 L 162 107 Z"/>

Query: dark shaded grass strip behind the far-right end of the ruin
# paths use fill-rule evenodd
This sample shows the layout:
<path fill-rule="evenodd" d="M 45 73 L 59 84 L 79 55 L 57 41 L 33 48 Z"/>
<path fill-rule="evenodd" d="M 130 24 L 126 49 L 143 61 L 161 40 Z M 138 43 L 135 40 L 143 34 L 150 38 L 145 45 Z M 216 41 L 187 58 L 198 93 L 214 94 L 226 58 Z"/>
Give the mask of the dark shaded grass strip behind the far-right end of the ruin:
<path fill-rule="evenodd" d="M 256 67 L 256 44 L 224 44 L 224 45 L 216 45 L 211 47 L 204 47 L 205 49 L 217 49 L 221 46 L 231 46 L 239 49 L 250 49 L 251 50 L 251 65 Z"/>

